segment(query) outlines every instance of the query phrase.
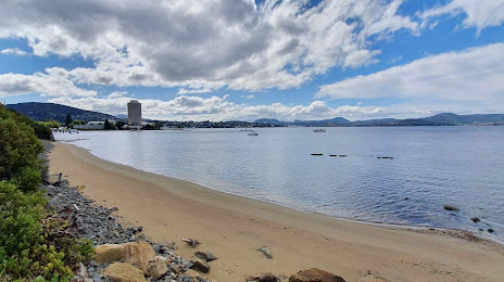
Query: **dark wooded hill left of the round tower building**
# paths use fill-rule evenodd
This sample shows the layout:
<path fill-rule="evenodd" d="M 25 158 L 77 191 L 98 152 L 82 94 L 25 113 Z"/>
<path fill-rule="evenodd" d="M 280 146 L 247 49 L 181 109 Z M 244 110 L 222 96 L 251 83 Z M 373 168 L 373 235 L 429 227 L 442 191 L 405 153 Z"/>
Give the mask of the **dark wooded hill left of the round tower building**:
<path fill-rule="evenodd" d="M 9 104 L 7 106 L 38 121 L 54 119 L 60 123 L 65 123 L 66 115 L 68 114 L 74 120 L 103 121 L 105 119 L 116 119 L 116 117 L 112 115 L 53 103 L 29 102 Z"/>

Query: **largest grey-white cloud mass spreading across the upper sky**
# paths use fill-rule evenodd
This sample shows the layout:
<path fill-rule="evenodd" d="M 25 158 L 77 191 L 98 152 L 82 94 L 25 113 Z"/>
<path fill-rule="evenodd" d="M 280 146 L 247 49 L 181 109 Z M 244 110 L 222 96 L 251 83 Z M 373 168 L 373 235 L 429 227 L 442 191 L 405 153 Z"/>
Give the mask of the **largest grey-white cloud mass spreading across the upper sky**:
<path fill-rule="evenodd" d="M 376 63 L 371 36 L 417 33 L 417 23 L 398 14 L 401 3 L 7 0 L 0 38 L 27 38 L 35 55 L 94 60 L 92 68 L 68 70 L 77 84 L 181 87 L 181 94 L 286 89 L 332 67 Z"/>

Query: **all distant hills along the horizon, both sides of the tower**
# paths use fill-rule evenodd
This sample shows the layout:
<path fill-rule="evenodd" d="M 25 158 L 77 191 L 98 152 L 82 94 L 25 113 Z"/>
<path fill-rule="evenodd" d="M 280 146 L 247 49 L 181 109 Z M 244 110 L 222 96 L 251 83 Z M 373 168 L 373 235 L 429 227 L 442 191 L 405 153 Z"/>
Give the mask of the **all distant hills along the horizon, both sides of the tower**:
<path fill-rule="evenodd" d="M 55 119 L 60 123 L 65 123 L 66 115 L 71 115 L 72 119 L 87 121 L 102 121 L 105 119 L 126 119 L 126 115 L 112 116 L 109 114 L 85 111 L 72 106 L 53 104 L 53 103 L 18 103 L 9 104 L 8 107 L 20 112 L 35 120 Z M 144 119 L 148 120 L 148 119 Z M 231 121 L 228 121 L 231 123 Z M 247 124 L 245 121 L 234 121 L 235 124 Z M 250 124 L 250 123 L 249 123 Z M 382 118 L 350 121 L 343 117 L 335 117 L 323 120 L 294 120 L 280 121 L 274 118 L 260 118 L 253 124 L 256 125 L 275 125 L 275 126 L 306 126 L 306 127 L 335 127 L 335 126 L 459 126 L 459 125 L 487 125 L 487 126 L 504 126 L 504 114 L 487 114 L 487 115 L 456 115 L 452 113 L 443 113 L 424 118 Z"/>

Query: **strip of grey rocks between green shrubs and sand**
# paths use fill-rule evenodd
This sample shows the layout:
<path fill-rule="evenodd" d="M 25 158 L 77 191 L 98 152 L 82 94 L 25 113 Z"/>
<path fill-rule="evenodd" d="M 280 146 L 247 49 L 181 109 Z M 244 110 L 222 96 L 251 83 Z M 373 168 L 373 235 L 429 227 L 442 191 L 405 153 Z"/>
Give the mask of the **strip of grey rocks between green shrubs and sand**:
<path fill-rule="evenodd" d="M 92 240 L 93 246 L 97 249 L 105 244 L 117 245 L 131 242 L 147 242 L 152 246 L 155 256 L 169 260 L 169 266 L 172 266 L 162 277 L 155 280 L 152 279 L 151 281 L 193 281 L 194 277 L 184 275 L 184 273 L 193 267 L 194 262 L 193 260 L 186 260 L 179 256 L 175 256 L 175 243 L 151 242 L 149 238 L 141 233 L 141 227 L 126 227 L 117 222 L 116 216 L 113 215 L 117 210 L 116 208 L 106 208 L 86 198 L 79 192 L 81 187 L 71 187 L 65 180 L 54 182 L 51 181 L 51 178 L 55 179 L 58 176 L 46 178 L 47 181 L 41 185 L 41 189 L 47 191 L 49 204 L 54 208 L 58 217 L 67 220 L 68 225 L 73 228 L 72 230 L 79 238 Z M 91 260 L 89 264 L 83 265 L 84 268 L 81 267 L 78 271 L 79 275 L 75 280 L 87 281 L 91 279 L 92 281 L 109 281 L 102 272 L 109 267 L 110 262 L 112 261 L 99 264 L 97 260 Z M 205 280 L 200 279 L 198 281 Z"/>

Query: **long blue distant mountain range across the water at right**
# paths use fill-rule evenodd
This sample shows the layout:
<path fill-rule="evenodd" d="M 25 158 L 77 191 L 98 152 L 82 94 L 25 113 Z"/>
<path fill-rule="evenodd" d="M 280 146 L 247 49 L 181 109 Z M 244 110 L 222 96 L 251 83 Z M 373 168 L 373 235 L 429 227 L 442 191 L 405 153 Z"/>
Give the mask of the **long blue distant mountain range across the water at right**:
<path fill-rule="evenodd" d="M 504 126 L 504 114 L 487 115 L 456 115 L 443 113 L 424 118 L 382 118 L 350 121 L 343 117 L 335 117 L 323 120 L 294 120 L 280 121 L 274 118 L 260 118 L 254 123 L 281 126 L 307 126 L 307 127 L 333 127 L 333 126 L 461 126 L 461 125 L 487 125 Z"/>

